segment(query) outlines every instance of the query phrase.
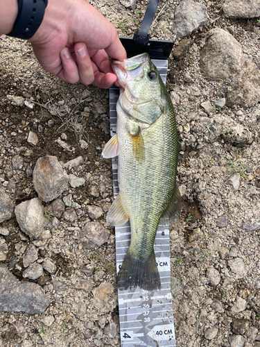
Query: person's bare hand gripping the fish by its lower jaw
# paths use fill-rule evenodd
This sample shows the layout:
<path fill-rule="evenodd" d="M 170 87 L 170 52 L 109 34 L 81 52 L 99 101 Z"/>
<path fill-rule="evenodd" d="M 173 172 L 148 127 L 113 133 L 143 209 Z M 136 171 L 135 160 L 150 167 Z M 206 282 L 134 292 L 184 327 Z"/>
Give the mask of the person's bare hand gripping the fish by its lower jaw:
<path fill-rule="evenodd" d="M 108 56 L 123 61 L 125 49 L 114 26 L 85 0 L 49 0 L 29 41 L 44 70 L 63 81 L 118 85 Z"/>

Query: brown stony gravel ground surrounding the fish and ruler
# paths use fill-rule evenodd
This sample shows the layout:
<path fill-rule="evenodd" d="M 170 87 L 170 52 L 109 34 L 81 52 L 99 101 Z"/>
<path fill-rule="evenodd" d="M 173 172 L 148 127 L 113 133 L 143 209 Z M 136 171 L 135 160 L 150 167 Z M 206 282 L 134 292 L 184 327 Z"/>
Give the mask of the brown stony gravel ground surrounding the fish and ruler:
<path fill-rule="evenodd" d="M 139 1 L 132 10 L 124 1 L 90 2 L 125 37 L 137 31 L 148 4 Z M 164 4 L 152 38 L 177 36 L 166 84 L 180 141 L 182 212 L 170 233 L 176 346 L 257 347 L 259 22 L 227 18 L 220 1 L 203 1 L 205 25 L 178 37 L 173 26 L 178 3 L 162 1 L 159 10 Z M 234 57 L 239 73 L 230 65 L 227 77 L 224 71 L 209 78 L 209 60 L 202 67 L 202 59 L 212 37 L 227 35 L 223 31 L 241 45 L 236 56 L 243 66 L 233 64 Z M 33 201 L 45 215 L 39 222 L 45 228 L 42 238 L 21 228 L 17 208 L 3 220 L 0 259 L 23 284 L 40 285 L 49 300 L 42 313 L 1 312 L 0 346 L 120 346 L 114 229 L 105 221 L 112 167 L 101 158 L 110 139 L 108 91 L 69 85 L 45 73 L 28 42 L 3 35 L 0 44 L 0 194 L 10 197 L 10 211 Z M 221 56 L 216 41 L 214 50 Z M 243 90 L 247 83 L 248 93 Z M 40 201 L 33 185 L 35 164 L 46 155 L 58 158 L 68 175 L 69 184 L 54 203 Z"/>

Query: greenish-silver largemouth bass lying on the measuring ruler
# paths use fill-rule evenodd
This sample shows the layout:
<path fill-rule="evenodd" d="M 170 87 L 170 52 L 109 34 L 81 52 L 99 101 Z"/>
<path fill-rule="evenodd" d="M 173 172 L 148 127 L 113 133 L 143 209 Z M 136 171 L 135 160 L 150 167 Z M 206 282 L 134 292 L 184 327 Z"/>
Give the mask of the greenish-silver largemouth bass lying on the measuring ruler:
<path fill-rule="evenodd" d="M 107 223 L 121 226 L 130 219 L 131 228 L 116 287 L 153 291 L 161 287 L 153 248 L 159 219 L 176 216 L 181 203 L 175 113 L 148 53 L 112 60 L 112 69 L 120 85 L 116 134 L 102 155 L 118 156 L 119 194 L 107 212 Z"/>

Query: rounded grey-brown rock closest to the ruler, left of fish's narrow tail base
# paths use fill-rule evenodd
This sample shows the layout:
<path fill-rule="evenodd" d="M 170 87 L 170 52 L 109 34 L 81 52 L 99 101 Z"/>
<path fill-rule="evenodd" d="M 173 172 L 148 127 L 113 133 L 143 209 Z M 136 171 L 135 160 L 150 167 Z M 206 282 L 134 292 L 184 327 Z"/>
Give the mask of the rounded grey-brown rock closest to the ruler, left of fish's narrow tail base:
<path fill-rule="evenodd" d="M 92 251 L 105 244 L 110 237 L 110 230 L 103 227 L 98 221 L 90 221 L 80 232 L 84 248 Z"/>

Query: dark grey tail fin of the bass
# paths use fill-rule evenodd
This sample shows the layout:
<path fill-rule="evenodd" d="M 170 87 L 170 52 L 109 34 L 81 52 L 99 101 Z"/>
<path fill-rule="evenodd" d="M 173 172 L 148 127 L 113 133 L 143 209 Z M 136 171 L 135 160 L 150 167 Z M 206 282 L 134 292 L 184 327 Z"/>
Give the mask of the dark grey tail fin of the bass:
<path fill-rule="evenodd" d="M 146 260 L 140 260 L 128 253 L 125 255 L 116 278 L 116 287 L 128 289 L 137 286 L 150 291 L 161 288 L 154 251 Z"/>

